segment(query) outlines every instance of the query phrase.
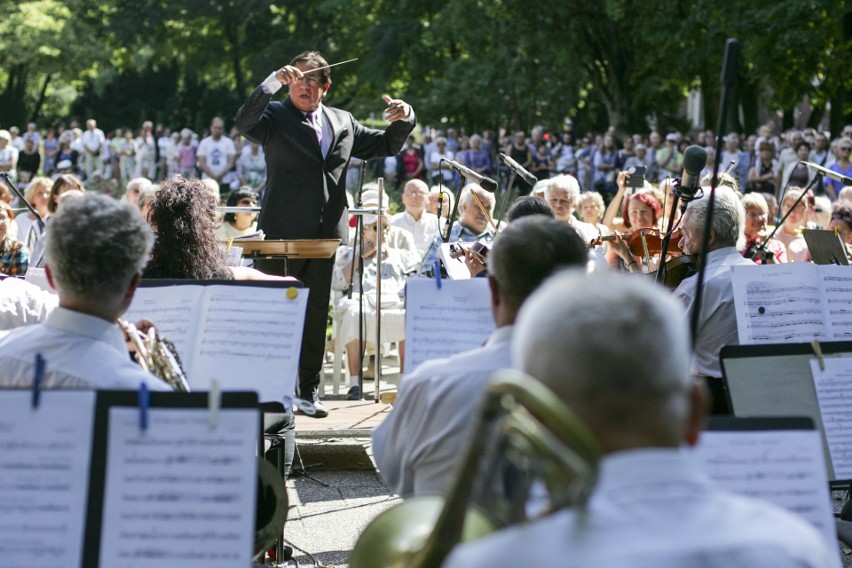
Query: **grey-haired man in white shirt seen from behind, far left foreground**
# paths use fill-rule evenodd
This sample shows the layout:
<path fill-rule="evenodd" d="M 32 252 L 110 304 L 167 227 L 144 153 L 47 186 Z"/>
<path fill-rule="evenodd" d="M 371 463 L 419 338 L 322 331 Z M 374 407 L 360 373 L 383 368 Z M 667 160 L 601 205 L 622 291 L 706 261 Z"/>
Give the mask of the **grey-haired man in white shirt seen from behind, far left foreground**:
<path fill-rule="evenodd" d="M 0 386 L 27 387 L 35 355 L 45 388 L 170 390 L 132 363 L 116 323 L 141 279 L 154 236 L 129 203 L 88 193 L 63 200 L 50 223 L 45 272 L 59 307 L 40 324 L 0 333 Z"/>

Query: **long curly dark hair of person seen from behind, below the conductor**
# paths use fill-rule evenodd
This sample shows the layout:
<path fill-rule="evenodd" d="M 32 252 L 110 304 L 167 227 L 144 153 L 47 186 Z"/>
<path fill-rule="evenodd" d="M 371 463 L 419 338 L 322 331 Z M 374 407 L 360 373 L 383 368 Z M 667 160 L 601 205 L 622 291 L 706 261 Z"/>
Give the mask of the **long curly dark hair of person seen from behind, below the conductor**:
<path fill-rule="evenodd" d="M 165 181 L 148 219 L 157 233 L 144 278 L 233 280 L 216 241 L 216 199 L 197 179 Z"/>

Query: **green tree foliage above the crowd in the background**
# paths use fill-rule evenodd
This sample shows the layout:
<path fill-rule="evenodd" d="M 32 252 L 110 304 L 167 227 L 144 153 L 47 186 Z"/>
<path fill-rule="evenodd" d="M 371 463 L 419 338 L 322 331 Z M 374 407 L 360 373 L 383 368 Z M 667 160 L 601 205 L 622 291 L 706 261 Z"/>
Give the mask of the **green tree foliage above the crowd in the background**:
<path fill-rule="evenodd" d="M 690 89 L 715 127 L 724 43 L 742 56 L 728 127 L 807 97 L 848 121 L 848 0 L 0 0 L 0 122 L 98 116 L 198 129 L 231 117 L 304 49 L 329 61 L 329 102 L 380 117 L 381 95 L 421 122 L 468 130 L 684 127 Z M 817 115 L 819 112 L 817 112 Z M 836 128 L 836 127 L 835 127 Z"/>

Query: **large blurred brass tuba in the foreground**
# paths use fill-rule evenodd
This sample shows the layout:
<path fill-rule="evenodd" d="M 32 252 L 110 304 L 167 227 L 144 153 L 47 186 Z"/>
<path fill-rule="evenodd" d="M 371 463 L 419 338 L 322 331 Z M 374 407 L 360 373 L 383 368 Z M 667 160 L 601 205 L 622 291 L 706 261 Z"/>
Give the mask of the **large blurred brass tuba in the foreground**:
<path fill-rule="evenodd" d="M 416 496 L 381 513 L 358 538 L 351 568 L 438 568 L 459 542 L 532 518 L 536 488 L 547 490 L 538 517 L 584 507 L 597 479 L 600 451 L 586 426 L 518 371 L 491 379 L 466 448 L 446 498 Z"/>

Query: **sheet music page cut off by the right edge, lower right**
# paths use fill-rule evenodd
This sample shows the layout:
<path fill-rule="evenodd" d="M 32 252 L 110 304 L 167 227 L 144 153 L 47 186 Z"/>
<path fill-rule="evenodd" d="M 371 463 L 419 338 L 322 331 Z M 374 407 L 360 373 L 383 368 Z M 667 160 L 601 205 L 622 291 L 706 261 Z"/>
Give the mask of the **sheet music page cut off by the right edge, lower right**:
<path fill-rule="evenodd" d="M 852 479 L 852 358 L 811 361 L 822 427 L 836 479 Z"/>

